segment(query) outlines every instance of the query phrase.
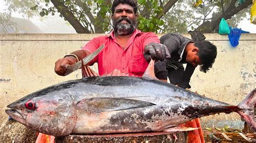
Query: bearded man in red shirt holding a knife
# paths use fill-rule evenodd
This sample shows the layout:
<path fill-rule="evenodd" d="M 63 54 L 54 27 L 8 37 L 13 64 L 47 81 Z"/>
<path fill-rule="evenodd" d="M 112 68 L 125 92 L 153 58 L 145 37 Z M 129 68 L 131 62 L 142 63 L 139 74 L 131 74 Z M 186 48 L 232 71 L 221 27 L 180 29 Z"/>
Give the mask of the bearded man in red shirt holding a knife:
<path fill-rule="evenodd" d="M 99 75 L 106 75 L 114 69 L 129 76 L 142 76 L 151 58 L 164 60 L 170 58 L 166 46 L 152 32 L 136 29 L 137 5 L 132 0 L 116 0 L 112 5 L 113 31 L 109 35 L 93 38 L 82 50 L 72 52 L 55 63 L 55 72 L 65 76 L 66 65 L 82 60 L 105 44 L 104 49 L 89 65 L 98 63 Z M 145 55 L 144 55 L 145 54 Z M 144 58 L 145 57 L 145 58 Z"/>

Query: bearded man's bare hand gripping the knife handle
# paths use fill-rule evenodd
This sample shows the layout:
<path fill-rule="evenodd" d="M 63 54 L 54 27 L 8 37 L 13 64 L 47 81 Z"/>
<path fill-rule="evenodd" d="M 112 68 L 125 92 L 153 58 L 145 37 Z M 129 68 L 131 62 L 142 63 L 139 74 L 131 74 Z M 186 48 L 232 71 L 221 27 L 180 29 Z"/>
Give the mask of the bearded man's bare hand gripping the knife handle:
<path fill-rule="evenodd" d="M 73 56 L 66 56 L 65 58 L 59 59 L 55 62 L 55 73 L 60 76 L 66 75 L 66 65 L 73 65 L 77 62 L 77 59 Z"/>

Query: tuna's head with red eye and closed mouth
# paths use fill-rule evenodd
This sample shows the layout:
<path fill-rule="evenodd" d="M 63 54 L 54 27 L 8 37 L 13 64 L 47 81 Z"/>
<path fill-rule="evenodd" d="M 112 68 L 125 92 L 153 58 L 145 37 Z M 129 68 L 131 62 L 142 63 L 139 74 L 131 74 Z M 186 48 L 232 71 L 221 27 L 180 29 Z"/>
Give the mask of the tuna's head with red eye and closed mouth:
<path fill-rule="evenodd" d="M 5 112 L 9 116 L 45 134 L 69 135 L 76 125 L 76 110 L 70 96 L 28 95 L 7 107 Z"/>

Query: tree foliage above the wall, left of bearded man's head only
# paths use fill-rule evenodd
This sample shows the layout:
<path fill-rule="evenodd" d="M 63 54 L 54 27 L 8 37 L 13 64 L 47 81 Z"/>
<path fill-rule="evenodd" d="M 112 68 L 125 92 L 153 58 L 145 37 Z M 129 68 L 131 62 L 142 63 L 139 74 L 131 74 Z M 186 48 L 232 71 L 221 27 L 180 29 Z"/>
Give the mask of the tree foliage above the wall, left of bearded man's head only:
<path fill-rule="evenodd" d="M 75 20 L 78 20 L 83 27 L 86 27 L 90 33 L 103 33 L 104 31 L 109 30 L 110 25 L 110 6 L 112 3 L 107 3 L 104 0 L 100 1 L 89 1 L 89 0 L 60 0 L 58 1 L 59 5 L 52 5 L 49 0 L 45 0 L 45 6 L 41 9 L 40 16 L 56 15 L 67 20 L 65 14 L 62 13 L 62 10 L 68 9 L 71 11 Z M 40 11 L 38 3 L 35 6 L 32 6 L 30 10 Z"/>

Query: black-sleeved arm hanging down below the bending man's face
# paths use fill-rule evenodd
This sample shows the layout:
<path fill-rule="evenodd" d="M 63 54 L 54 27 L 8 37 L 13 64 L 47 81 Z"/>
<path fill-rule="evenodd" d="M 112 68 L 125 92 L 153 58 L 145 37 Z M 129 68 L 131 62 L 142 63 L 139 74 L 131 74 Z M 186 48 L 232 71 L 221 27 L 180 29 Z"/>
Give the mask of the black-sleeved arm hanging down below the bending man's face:
<path fill-rule="evenodd" d="M 190 78 L 192 76 L 192 74 L 194 73 L 194 69 L 196 69 L 195 67 L 193 67 L 193 65 L 191 65 L 190 63 L 187 63 L 186 69 L 183 73 L 183 76 L 181 78 L 181 81 L 178 83 L 178 86 L 181 88 L 191 88 L 190 86 Z"/>

